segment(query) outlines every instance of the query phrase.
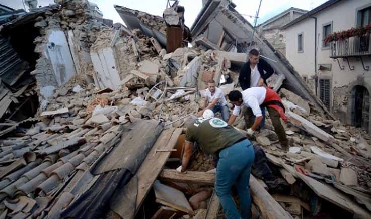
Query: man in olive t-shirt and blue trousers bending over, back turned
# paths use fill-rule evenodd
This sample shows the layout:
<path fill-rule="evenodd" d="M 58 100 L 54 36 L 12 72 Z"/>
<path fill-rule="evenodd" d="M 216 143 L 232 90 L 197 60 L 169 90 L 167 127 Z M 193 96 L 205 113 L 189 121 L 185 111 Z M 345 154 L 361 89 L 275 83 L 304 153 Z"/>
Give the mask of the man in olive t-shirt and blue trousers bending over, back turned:
<path fill-rule="evenodd" d="M 250 141 L 218 118 L 188 120 L 181 172 L 185 172 L 188 166 L 194 142 L 206 153 L 219 158 L 215 191 L 227 219 L 250 219 L 249 180 L 254 162 L 254 149 Z M 240 197 L 241 214 L 231 196 L 233 185 L 236 185 Z"/>

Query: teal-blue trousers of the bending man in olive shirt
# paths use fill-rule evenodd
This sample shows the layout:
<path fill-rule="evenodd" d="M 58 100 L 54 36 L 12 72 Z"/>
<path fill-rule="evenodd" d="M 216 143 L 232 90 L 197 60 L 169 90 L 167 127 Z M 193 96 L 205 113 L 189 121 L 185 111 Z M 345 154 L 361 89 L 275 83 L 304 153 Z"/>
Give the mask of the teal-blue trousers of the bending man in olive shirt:
<path fill-rule="evenodd" d="M 254 149 L 249 140 L 229 146 L 219 152 L 216 167 L 215 191 L 227 219 L 250 219 L 250 173 Z M 231 189 L 236 185 L 241 203 L 241 215 L 232 199 Z"/>

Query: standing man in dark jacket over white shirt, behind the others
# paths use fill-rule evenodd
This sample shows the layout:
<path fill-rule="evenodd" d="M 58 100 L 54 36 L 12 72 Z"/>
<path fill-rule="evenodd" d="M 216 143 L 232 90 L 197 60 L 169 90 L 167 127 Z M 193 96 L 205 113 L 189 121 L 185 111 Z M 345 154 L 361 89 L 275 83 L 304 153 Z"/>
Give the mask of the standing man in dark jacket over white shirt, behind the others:
<path fill-rule="evenodd" d="M 273 73 L 273 68 L 264 59 L 260 59 L 259 51 L 252 49 L 249 52 L 249 61 L 246 62 L 240 70 L 238 81 L 242 90 L 246 90 L 250 87 L 267 85 L 266 80 L 272 76 Z M 251 114 L 251 108 L 243 107 L 242 111 L 243 113 L 248 111 L 247 113 Z M 263 128 L 265 125 L 265 107 L 261 107 L 261 112 L 263 120 L 260 123 L 260 128 Z M 254 119 L 254 117 L 251 118 L 252 121 L 254 121 Z M 249 127 L 249 121 L 245 120 L 245 122 L 246 126 Z"/>

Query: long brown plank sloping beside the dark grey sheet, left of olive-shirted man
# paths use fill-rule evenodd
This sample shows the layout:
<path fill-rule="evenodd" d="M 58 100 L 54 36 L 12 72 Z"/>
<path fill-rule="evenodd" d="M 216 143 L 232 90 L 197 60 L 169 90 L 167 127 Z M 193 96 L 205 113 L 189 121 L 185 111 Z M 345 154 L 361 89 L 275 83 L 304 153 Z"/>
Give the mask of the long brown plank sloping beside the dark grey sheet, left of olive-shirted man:
<path fill-rule="evenodd" d="M 166 160 L 171 152 L 156 152 L 157 149 L 173 149 L 178 137 L 182 134 L 182 129 L 167 129 L 162 131 L 160 137 L 155 142 L 150 152 L 145 157 L 143 163 L 136 172 L 138 177 L 138 195 L 136 198 L 136 211 L 139 210 L 144 198 L 150 191 L 156 178 L 164 168 Z"/>

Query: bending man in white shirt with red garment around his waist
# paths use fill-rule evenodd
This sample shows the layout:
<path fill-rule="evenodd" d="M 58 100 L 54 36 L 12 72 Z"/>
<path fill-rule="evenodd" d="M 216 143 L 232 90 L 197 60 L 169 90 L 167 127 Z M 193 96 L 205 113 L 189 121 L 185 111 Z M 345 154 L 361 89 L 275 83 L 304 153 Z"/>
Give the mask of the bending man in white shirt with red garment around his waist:
<path fill-rule="evenodd" d="M 263 120 L 260 107 L 267 107 L 274 131 L 278 136 L 278 140 L 280 141 L 283 149 L 288 149 L 286 132 L 280 121 L 280 118 L 282 118 L 284 121 L 287 121 L 287 117 L 284 115 L 285 110 L 282 100 L 276 92 L 266 87 L 252 87 L 242 91 L 242 93 L 240 91 L 233 90 L 228 94 L 228 99 L 233 105 L 235 105 L 231 118 L 228 121 L 228 125 L 232 125 L 233 122 L 235 122 L 236 118 L 240 115 L 241 105 L 245 105 L 246 107 L 251 108 L 250 112 L 252 112 L 252 114 L 245 114 L 244 116 L 255 116 L 254 124 L 247 130 L 249 135 L 253 135 Z"/>

